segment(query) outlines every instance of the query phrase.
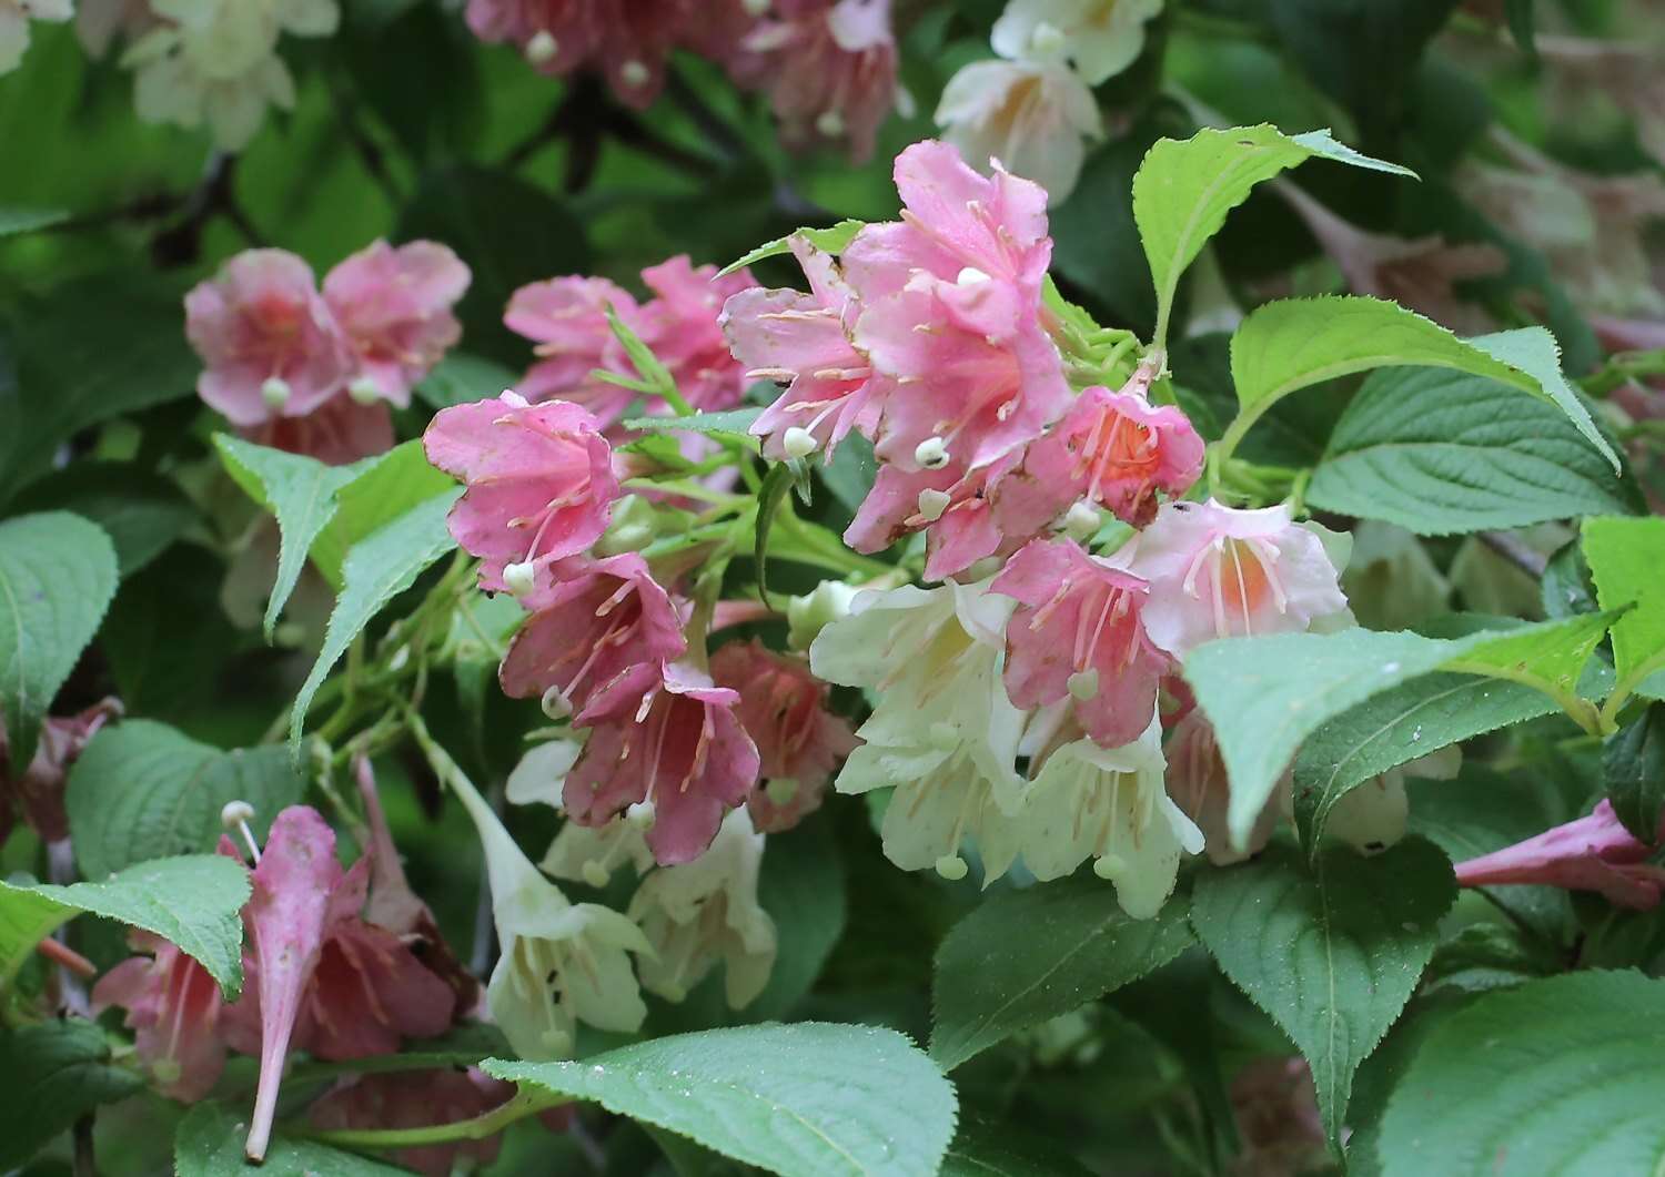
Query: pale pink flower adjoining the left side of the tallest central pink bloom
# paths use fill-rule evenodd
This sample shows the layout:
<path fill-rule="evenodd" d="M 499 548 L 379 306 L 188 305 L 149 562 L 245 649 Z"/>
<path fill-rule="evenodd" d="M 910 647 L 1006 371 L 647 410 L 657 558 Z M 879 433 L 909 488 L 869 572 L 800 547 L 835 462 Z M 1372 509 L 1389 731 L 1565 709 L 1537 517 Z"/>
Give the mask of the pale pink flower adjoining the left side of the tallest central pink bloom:
<path fill-rule="evenodd" d="M 746 380 L 788 386 L 751 426 L 776 461 L 804 456 L 786 449 L 788 430 L 803 430 L 831 453 L 851 430 L 871 435 L 879 410 L 872 368 L 851 343 L 861 310 L 856 291 L 837 263 L 804 238 L 793 238 L 793 255 L 809 278 L 808 295 L 753 286 L 731 295 L 719 320 L 734 356 L 749 368 Z"/>

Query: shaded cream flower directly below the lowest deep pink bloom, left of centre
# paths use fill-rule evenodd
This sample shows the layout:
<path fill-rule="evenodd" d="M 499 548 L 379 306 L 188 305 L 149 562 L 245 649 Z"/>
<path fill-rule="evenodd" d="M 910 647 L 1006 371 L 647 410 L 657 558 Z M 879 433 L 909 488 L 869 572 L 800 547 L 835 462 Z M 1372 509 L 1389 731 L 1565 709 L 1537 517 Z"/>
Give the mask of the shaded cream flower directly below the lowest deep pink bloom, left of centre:
<path fill-rule="evenodd" d="M 744 809 L 723 819 L 711 847 L 693 862 L 653 871 L 629 902 L 654 956 L 641 984 L 681 1001 L 723 962 L 731 1009 L 749 1006 L 774 967 L 774 921 L 758 906 L 764 836 Z"/>

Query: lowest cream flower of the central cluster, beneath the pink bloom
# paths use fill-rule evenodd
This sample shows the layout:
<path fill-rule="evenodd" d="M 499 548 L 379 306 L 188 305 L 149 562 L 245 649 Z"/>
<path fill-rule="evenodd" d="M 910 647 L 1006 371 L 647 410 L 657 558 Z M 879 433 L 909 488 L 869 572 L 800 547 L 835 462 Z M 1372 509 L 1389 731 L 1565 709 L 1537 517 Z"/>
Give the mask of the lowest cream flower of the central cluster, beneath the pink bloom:
<path fill-rule="evenodd" d="M 1179 861 L 1202 851 L 1202 831 L 1162 789 L 1162 726 L 1122 747 L 1091 739 L 1056 744 L 1029 786 L 1021 814 L 1024 864 L 1059 879 L 1092 857 L 1134 919 L 1149 919 L 1174 891 Z"/>

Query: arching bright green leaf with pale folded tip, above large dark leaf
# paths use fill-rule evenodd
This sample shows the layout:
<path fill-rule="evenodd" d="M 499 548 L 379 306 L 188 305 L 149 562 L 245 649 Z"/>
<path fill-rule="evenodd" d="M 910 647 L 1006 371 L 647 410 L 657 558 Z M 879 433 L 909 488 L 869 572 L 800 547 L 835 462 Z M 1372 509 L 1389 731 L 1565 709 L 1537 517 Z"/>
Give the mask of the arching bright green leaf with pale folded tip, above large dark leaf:
<path fill-rule="evenodd" d="M 1232 335 L 1232 381 L 1244 431 L 1290 393 L 1339 376 L 1392 366 L 1450 368 L 1487 376 L 1558 406 L 1617 473 L 1618 454 L 1560 371 L 1555 336 L 1542 326 L 1459 340 L 1397 303 L 1362 295 L 1285 298 L 1250 311 Z"/>

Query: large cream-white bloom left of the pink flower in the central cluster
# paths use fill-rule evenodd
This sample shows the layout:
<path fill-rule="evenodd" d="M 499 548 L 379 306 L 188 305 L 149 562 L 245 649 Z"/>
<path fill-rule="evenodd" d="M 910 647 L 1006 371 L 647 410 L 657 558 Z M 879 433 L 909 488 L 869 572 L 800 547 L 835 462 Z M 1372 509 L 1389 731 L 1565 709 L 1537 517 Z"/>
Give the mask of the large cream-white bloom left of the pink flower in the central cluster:
<path fill-rule="evenodd" d="M 1016 854 L 1009 814 L 1022 804 L 1014 766 L 1027 716 L 1001 683 L 1014 604 L 987 581 L 862 593 L 809 648 L 819 678 L 877 693 L 834 787 L 896 787 L 881 837 L 904 871 L 962 877 L 966 839 L 996 864 Z"/>

